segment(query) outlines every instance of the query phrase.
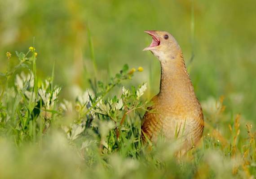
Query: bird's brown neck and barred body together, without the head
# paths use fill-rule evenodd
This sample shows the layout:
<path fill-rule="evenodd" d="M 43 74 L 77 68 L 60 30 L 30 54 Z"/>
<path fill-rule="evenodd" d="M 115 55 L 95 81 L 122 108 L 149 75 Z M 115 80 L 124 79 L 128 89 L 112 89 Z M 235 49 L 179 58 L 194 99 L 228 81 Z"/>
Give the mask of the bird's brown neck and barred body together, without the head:
<path fill-rule="evenodd" d="M 193 148 L 203 135 L 202 107 L 194 94 L 181 50 L 175 63 L 168 60 L 160 62 L 160 91 L 152 98 L 153 106 L 148 108 L 143 117 L 143 140 L 156 142 L 159 135 L 169 140 L 181 138 L 181 150 L 186 152 Z"/>

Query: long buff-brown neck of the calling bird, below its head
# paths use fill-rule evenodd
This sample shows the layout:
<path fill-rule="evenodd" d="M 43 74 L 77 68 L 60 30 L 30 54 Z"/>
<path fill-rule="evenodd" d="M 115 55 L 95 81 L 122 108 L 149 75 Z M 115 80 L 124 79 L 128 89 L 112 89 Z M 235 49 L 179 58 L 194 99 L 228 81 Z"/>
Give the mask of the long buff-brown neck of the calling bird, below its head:
<path fill-rule="evenodd" d="M 194 87 L 185 67 L 182 52 L 161 62 L 161 82 L 159 97 L 171 102 L 186 103 L 194 100 Z"/>

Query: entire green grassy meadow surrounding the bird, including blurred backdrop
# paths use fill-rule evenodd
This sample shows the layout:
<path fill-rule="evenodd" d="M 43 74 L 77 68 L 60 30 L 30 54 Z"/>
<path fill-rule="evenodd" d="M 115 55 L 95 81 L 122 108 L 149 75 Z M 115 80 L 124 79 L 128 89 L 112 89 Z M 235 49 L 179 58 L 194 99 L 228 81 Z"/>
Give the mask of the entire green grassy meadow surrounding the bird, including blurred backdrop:
<path fill-rule="evenodd" d="M 0 178 L 256 175 L 256 1 L 0 0 Z M 205 128 L 195 148 L 141 142 L 160 64 L 183 50 Z"/>

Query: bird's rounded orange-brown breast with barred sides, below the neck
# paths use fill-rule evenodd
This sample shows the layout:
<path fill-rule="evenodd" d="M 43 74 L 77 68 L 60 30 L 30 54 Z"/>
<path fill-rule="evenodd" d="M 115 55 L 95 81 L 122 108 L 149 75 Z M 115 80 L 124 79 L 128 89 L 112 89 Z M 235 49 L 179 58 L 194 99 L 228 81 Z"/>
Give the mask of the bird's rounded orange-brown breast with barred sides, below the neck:
<path fill-rule="evenodd" d="M 169 140 L 183 136 L 185 140 L 192 140 L 188 142 L 190 145 L 196 143 L 203 132 L 200 104 L 188 106 L 170 102 L 169 105 L 163 105 L 164 103 L 158 100 L 151 107 L 154 112 L 146 112 L 142 131 L 151 141 L 157 141 L 158 136 L 163 135 Z"/>

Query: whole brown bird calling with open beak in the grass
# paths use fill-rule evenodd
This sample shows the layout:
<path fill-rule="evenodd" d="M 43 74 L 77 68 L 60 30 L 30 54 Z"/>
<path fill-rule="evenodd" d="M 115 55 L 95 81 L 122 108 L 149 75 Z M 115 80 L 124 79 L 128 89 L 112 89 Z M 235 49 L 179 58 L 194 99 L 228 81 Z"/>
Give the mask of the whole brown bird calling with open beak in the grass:
<path fill-rule="evenodd" d="M 143 51 L 151 51 L 161 65 L 159 93 L 151 99 L 142 119 L 143 141 L 157 143 L 181 140 L 180 153 L 185 154 L 198 144 L 203 135 L 203 111 L 185 67 L 181 47 L 166 31 L 146 30 L 152 43 Z"/>

